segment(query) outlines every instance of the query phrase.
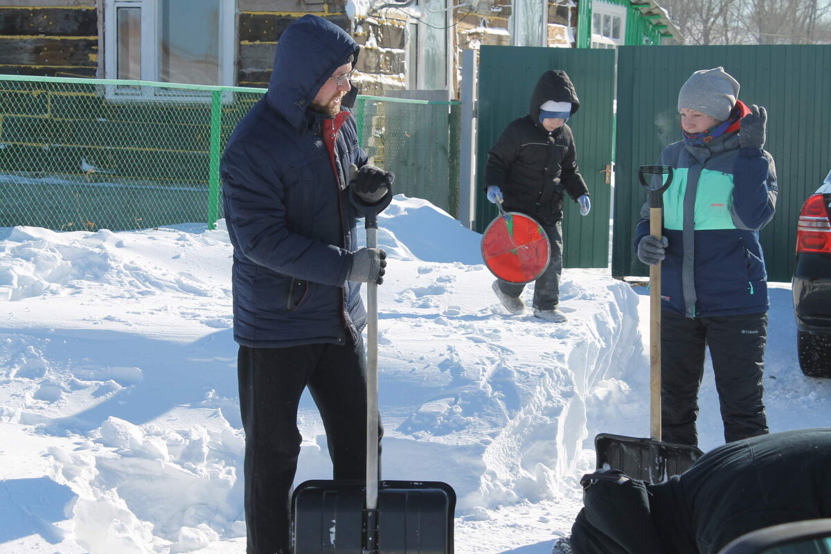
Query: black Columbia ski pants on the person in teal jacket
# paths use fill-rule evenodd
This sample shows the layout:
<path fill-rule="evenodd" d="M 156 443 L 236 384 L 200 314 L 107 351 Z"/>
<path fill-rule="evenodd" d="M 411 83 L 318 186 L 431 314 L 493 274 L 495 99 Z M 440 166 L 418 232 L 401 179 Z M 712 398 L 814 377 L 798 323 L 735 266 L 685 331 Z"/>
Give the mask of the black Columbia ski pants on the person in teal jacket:
<path fill-rule="evenodd" d="M 725 441 L 768 433 L 762 371 L 766 312 L 685 317 L 661 311 L 661 439 L 698 444 L 698 390 L 710 349 Z"/>

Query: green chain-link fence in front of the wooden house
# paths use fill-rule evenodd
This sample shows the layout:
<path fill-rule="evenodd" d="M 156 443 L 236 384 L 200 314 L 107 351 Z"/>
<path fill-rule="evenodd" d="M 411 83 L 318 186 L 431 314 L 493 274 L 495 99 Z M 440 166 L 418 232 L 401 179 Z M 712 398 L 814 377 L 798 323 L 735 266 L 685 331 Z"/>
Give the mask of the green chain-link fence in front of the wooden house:
<path fill-rule="evenodd" d="M 222 218 L 219 158 L 265 92 L 0 76 L 0 227 L 113 231 Z M 361 145 L 396 193 L 455 215 L 457 102 L 358 96 Z"/>

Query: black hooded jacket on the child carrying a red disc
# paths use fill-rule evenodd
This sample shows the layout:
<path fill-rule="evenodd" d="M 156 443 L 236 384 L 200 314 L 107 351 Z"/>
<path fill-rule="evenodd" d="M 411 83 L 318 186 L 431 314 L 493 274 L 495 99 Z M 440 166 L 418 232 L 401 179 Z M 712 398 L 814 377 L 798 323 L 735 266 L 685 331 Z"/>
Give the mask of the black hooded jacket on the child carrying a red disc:
<path fill-rule="evenodd" d="M 563 125 L 549 133 L 539 123 L 539 106 L 547 101 L 571 102 L 572 114 L 580 108 L 565 71 L 543 73 L 529 115 L 505 127 L 488 153 L 484 188 L 495 184 L 502 190 L 505 210 L 553 223 L 563 218 L 563 193 L 576 202 L 588 189 L 578 169 L 571 128 Z"/>

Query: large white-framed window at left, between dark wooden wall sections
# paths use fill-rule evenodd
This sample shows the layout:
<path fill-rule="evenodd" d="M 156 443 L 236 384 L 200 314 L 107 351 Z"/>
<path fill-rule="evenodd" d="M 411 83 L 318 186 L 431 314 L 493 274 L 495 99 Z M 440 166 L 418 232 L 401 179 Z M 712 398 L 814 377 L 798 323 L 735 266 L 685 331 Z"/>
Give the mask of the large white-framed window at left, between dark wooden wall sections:
<path fill-rule="evenodd" d="M 234 85 L 234 0 L 105 0 L 108 79 Z"/>

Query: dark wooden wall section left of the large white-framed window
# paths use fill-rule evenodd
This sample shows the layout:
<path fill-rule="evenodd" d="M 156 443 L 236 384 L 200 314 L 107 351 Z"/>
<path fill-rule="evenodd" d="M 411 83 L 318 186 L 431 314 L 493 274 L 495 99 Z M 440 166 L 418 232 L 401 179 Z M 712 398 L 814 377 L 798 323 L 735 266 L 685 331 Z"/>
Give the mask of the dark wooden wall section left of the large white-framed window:
<path fill-rule="evenodd" d="M 6 0 L 0 6 L 0 73 L 95 77 L 96 0 Z"/>

